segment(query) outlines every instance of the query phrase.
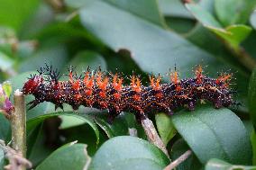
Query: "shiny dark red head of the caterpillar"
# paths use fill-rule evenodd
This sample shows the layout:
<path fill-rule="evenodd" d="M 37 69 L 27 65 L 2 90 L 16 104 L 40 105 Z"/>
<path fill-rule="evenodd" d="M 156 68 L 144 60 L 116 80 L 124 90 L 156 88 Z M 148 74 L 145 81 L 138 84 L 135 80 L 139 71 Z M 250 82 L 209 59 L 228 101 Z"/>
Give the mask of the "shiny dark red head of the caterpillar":
<path fill-rule="evenodd" d="M 29 80 L 23 85 L 23 94 L 33 94 L 38 86 L 41 85 L 43 78 L 41 75 L 33 75 Z"/>

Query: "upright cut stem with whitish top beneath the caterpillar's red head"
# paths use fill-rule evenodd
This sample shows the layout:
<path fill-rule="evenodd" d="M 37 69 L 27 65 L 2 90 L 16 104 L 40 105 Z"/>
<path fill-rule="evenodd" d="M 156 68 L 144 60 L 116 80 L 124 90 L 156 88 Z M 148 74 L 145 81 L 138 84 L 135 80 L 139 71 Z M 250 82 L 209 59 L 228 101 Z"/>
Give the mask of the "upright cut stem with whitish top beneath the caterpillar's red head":
<path fill-rule="evenodd" d="M 13 148 L 26 157 L 26 109 L 24 95 L 19 90 L 14 92 L 15 112 L 11 115 Z M 25 169 L 25 167 L 23 167 Z"/>

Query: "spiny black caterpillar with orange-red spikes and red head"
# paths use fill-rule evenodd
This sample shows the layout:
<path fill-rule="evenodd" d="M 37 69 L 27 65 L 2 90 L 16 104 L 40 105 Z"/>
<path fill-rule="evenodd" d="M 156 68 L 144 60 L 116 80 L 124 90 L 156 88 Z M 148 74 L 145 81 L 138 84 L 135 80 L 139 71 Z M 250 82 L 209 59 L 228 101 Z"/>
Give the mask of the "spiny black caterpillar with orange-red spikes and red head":
<path fill-rule="evenodd" d="M 169 84 L 161 84 L 161 76 L 150 76 L 150 85 L 144 86 L 139 76 L 132 76 L 130 85 L 123 85 L 123 77 L 118 74 L 106 75 L 101 70 L 83 76 L 69 69 L 69 80 L 60 81 L 58 70 L 51 66 L 41 67 L 39 75 L 32 75 L 23 85 L 23 94 L 32 94 L 35 99 L 28 103 L 30 109 L 42 102 L 55 104 L 63 109 L 69 103 L 74 110 L 80 105 L 107 110 L 111 119 L 121 112 L 134 112 L 142 119 L 149 112 L 166 112 L 169 115 L 179 107 L 186 106 L 193 111 L 197 101 L 206 100 L 215 108 L 233 104 L 233 90 L 229 88 L 230 74 L 217 78 L 203 75 L 201 66 L 195 77 L 179 80 L 175 69 L 170 74 Z"/>

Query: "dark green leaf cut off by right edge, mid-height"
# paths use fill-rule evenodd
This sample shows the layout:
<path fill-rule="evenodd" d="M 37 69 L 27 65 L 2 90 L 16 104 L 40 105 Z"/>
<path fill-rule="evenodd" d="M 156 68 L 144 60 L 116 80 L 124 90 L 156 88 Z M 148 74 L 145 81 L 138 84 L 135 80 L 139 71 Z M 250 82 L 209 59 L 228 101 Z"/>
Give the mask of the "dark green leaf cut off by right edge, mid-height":
<path fill-rule="evenodd" d="M 252 70 L 249 90 L 248 90 L 249 112 L 251 115 L 251 121 L 256 130 L 256 68 Z"/>

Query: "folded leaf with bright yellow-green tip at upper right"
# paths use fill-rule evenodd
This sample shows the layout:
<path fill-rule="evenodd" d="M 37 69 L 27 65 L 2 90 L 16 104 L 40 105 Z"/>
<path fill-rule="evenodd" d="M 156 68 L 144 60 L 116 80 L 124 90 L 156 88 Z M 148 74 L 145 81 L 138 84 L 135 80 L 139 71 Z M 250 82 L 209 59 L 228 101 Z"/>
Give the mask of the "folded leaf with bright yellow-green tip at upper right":
<path fill-rule="evenodd" d="M 207 29 L 226 40 L 234 48 L 237 48 L 242 40 L 245 40 L 251 33 L 251 27 L 242 24 L 223 28 L 211 13 L 208 13 L 198 4 L 186 4 L 186 7 Z"/>

